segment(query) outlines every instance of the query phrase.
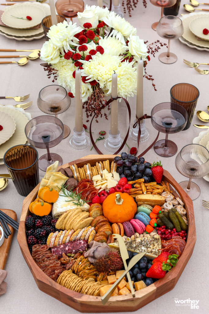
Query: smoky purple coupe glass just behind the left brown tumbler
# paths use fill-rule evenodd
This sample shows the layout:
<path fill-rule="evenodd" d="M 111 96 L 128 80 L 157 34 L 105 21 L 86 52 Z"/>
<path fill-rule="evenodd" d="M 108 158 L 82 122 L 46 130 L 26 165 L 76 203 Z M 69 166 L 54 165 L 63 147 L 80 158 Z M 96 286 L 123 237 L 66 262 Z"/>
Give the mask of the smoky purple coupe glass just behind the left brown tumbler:
<path fill-rule="evenodd" d="M 60 119 L 54 116 L 38 116 L 31 119 L 25 126 L 25 135 L 29 143 L 41 149 L 46 149 L 47 154 L 39 158 L 39 168 L 46 171 L 47 167 L 56 160 L 62 165 L 60 155 L 50 153 L 49 149 L 56 146 L 63 139 L 64 126 Z"/>

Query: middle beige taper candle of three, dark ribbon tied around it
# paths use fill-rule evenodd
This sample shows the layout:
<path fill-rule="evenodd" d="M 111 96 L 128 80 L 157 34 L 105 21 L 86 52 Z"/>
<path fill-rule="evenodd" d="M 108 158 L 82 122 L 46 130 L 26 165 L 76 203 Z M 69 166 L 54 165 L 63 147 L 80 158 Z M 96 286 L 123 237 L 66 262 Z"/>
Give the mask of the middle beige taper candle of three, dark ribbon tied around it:
<path fill-rule="evenodd" d="M 118 75 L 112 74 L 112 97 L 118 96 Z M 111 121 L 110 121 L 110 133 L 112 135 L 118 134 L 118 99 L 113 100 L 111 103 Z"/>

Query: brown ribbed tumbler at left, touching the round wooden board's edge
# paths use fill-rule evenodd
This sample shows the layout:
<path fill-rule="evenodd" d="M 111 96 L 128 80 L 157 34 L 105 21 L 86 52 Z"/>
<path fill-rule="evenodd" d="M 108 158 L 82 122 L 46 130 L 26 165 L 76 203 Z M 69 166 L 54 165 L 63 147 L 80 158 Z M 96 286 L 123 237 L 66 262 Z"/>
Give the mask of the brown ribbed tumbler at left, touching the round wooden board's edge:
<path fill-rule="evenodd" d="M 27 196 L 39 183 L 38 152 L 29 145 L 13 146 L 4 154 L 4 164 L 20 195 Z"/>

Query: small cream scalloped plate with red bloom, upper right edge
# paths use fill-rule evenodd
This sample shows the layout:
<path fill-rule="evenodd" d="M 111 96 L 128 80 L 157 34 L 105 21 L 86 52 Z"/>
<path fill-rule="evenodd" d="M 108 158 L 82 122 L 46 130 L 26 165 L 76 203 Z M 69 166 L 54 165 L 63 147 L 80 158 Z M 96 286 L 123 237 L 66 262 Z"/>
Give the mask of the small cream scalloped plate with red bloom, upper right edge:
<path fill-rule="evenodd" d="M 204 35 L 202 32 L 205 28 L 209 28 L 209 15 L 193 19 L 189 24 L 189 28 L 197 37 L 209 41 L 209 34 Z"/>

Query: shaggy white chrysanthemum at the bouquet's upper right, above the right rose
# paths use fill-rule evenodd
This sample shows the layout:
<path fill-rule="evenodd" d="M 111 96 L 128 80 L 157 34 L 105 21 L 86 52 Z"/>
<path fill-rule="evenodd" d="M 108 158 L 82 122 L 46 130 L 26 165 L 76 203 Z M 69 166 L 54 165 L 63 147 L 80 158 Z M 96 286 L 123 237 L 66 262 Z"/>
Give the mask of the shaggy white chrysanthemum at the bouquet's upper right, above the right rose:
<path fill-rule="evenodd" d="M 122 19 L 119 15 L 115 16 L 114 12 L 111 12 L 103 21 L 113 28 L 110 36 L 116 37 L 124 45 L 126 43 L 125 38 L 130 37 L 130 35 L 136 35 L 136 28 L 134 28 L 130 23 L 128 23 L 124 18 Z"/>

